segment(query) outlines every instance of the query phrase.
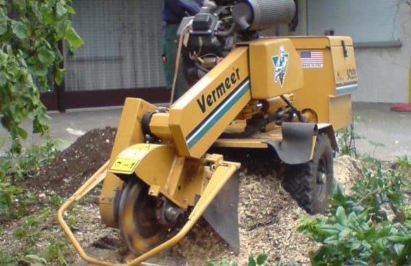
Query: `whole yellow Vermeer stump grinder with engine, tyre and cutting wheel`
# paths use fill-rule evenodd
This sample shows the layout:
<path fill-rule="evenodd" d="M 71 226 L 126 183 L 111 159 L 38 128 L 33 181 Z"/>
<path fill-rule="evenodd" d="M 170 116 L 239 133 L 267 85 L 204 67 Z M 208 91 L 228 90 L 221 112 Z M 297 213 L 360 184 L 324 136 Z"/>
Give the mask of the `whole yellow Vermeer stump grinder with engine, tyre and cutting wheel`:
<path fill-rule="evenodd" d="M 282 165 L 299 205 L 327 208 L 334 131 L 351 123 L 357 88 L 353 44 L 345 36 L 259 37 L 294 14 L 292 0 L 214 1 L 184 18 L 180 65 L 190 90 L 169 108 L 127 98 L 110 160 L 58 211 L 84 260 L 116 265 L 88 256 L 63 220 L 102 181 L 101 220 L 120 228 L 136 255 L 127 265 L 175 245 L 201 216 L 238 250 L 240 163 L 213 149 L 269 150 L 266 160 Z"/>

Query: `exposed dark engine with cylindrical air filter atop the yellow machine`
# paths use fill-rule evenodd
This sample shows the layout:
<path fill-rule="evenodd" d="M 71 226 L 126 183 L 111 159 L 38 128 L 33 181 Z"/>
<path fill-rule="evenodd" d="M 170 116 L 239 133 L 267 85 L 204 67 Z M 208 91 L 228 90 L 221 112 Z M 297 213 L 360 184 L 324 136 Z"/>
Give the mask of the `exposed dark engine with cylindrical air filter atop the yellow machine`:
<path fill-rule="evenodd" d="M 293 0 L 208 1 L 199 14 L 184 18 L 178 31 L 186 35 L 182 60 L 188 83 L 206 75 L 234 43 L 254 40 L 258 31 L 288 23 L 294 15 Z"/>

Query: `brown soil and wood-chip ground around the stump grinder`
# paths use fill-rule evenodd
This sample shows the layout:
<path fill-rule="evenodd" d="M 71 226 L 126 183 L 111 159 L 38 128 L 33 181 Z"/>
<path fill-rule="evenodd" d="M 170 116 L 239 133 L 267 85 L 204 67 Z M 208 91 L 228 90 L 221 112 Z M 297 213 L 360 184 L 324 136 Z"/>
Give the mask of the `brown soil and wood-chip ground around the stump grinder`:
<path fill-rule="evenodd" d="M 34 191 L 38 206 L 47 204 L 45 199 L 51 197 L 68 198 L 81 186 L 92 173 L 100 168 L 110 157 L 116 129 L 106 127 L 89 131 L 79 137 L 66 150 L 45 165 L 25 187 Z M 269 254 L 269 262 L 295 261 L 299 265 L 308 265 L 308 254 L 318 245 L 296 229 L 299 219 L 308 215 L 300 209 L 291 196 L 282 187 L 282 181 L 270 167 L 266 157 L 243 155 L 240 170 L 240 252 L 235 253 L 208 226 L 205 220 L 199 220 L 195 227 L 178 243 L 177 246 L 163 252 L 149 261 L 155 265 L 201 265 L 207 261 L 237 261 L 240 265 L 247 263 L 249 254 Z M 267 170 L 271 169 L 271 170 Z M 352 178 L 360 173 L 360 166 L 349 157 L 336 159 L 335 176 L 338 181 L 349 187 Z M 86 252 L 92 256 L 108 261 L 124 261 L 127 248 L 121 240 L 118 229 L 108 228 L 99 217 L 98 188 L 80 202 L 71 212 L 66 213 L 66 220 L 75 236 L 82 243 Z M 53 211 L 57 211 L 55 206 Z M 32 213 L 39 213 L 36 207 Z M 55 216 L 44 222 L 43 230 L 64 238 Z M 12 232 L 18 223 L 7 224 L 3 243 L 9 243 L 10 249 L 18 248 Z M 38 241 L 37 245 L 47 247 L 47 241 Z M 66 256 L 69 265 L 88 265 L 69 250 Z"/>

